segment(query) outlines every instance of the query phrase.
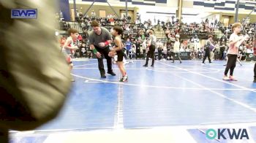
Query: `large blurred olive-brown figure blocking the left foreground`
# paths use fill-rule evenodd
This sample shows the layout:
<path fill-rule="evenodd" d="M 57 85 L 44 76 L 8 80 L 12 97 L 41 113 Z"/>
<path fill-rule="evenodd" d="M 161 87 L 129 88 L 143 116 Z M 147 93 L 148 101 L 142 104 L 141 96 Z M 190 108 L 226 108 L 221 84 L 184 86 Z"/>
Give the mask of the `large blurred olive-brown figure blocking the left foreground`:
<path fill-rule="evenodd" d="M 8 131 L 39 127 L 58 115 L 70 87 L 55 36 L 54 0 L 0 0 L 0 142 Z M 37 19 L 11 19 L 37 9 Z"/>

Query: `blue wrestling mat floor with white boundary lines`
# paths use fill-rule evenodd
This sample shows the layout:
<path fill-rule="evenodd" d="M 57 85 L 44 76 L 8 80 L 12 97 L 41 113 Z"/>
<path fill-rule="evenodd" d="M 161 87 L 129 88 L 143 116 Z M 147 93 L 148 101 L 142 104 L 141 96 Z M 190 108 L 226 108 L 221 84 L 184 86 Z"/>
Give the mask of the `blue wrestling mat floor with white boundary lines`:
<path fill-rule="evenodd" d="M 115 138 L 121 133 L 135 136 L 135 132 L 141 139 L 143 135 L 149 139 L 153 133 L 161 139 L 166 135 L 168 142 L 227 142 L 207 140 L 205 131 L 228 126 L 256 133 L 254 63 L 237 64 L 236 82 L 222 80 L 225 61 L 206 61 L 206 65 L 201 61 L 156 61 L 154 68 L 144 68 L 144 63 L 127 63 L 129 81 L 118 82 L 121 75 L 117 65 L 113 65 L 116 77 L 107 75 L 103 80 L 97 60 L 76 59 L 72 70 L 75 82 L 59 117 L 35 131 L 11 131 L 11 142 L 68 142 L 78 138 L 78 142 L 96 142 L 107 139 L 106 134 Z"/>

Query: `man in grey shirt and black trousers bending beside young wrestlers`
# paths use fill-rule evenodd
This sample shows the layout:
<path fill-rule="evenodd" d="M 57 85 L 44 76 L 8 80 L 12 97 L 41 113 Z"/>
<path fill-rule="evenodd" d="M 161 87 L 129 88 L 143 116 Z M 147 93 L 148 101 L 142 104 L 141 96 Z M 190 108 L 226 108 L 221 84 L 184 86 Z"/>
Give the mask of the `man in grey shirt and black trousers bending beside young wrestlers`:
<path fill-rule="evenodd" d="M 100 27 L 99 23 L 96 20 L 91 22 L 91 26 L 94 31 L 89 34 L 89 44 L 91 50 L 97 56 L 100 76 L 102 78 L 106 78 L 103 64 L 103 56 L 107 59 L 108 74 L 116 76 L 112 69 L 111 58 L 108 56 L 108 53 L 110 52 L 109 44 L 112 42 L 110 32 L 106 28 Z"/>

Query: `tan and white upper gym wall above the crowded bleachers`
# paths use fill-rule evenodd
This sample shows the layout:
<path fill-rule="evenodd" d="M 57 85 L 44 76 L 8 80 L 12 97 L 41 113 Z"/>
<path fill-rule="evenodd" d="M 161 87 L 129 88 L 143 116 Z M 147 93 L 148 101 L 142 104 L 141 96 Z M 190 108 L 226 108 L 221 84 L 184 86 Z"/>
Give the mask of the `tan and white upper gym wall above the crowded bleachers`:
<path fill-rule="evenodd" d="M 67 1 L 67 0 L 61 0 Z M 76 0 L 77 8 L 79 12 L 85 12 L 86 9 L 92 4 L 94 0 Z M 91 7 L 88 14 L 91 14 L 91 11 L 94 10 L 96 15 L 99 16 L 99 10 L 105 10 L 106 15 L 113 14 L 112 9 L 108 6 L 105 0 L 96 0 L 97 2 L 94 3 L 94 6 Z M 140 1 L 140 2 L 138 2 Z M 120 10 L 125 9 L 125 0 L 108 0 L 110 5 L 118 12 L 120 15 Z M 73 7 L 73 0 L 69 0 L 69 7 L 70 9 Z M 238 19 L 242 20 L 252 11 L 255 7 L 256 1 L 241 1 L 239 4 L 239 15 Z M 82 9 L 80 9 L 82 7 Z M 132 20 L 136 18 L 136 12 L 140 12 L 141 15 L 148 15 L 147 13 L 156 12 L 167 14 L 175 14 L 176 9 L 178 7 L 178 0 L 128 0 L 128 7 L 129 10 L 134 10 Z M 136 9 L 136 10 L 135 10 Z M 230 23 L 234 23 L 235 17 L 235 9 L 236 9 L 236 0 L 218 0 L 218 1 L 192 1 L 192 0 L 184 0 L 183 1 L 183 9 L 182 12 L 184 15 L 193 14 L 195 15 L 194 18 L 198 19 L 200 22 L 200 13 L 208 12 L 211 14 L 219 13 L 220 21 L 223 22 L 223 16 L 228 16 L 230 18 Z M 256 11 L 256 10 L 255 10 Z M 130 12 L 129 12 L 130 14 Z M 157 14 L 154 14 L 157 15 Z M 154 16 L 153 16 L 154 17 Z M 193 17 L 193 16 L 191 16 Z M 148 18 L 148 16 L 147 16 Z M 249 16 L 251 18 L 251 23 L 256 22 L 256 15 L 255 12 Z"/>

